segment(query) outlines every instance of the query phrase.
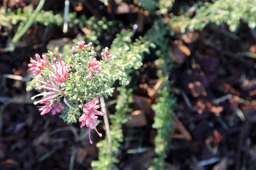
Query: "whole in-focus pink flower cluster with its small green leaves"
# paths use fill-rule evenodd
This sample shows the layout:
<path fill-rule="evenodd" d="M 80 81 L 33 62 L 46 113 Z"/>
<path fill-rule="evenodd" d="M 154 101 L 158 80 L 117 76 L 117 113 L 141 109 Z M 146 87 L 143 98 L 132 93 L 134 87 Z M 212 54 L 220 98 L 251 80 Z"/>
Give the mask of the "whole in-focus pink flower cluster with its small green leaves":
<path fill-rule="evenodd" d="M 44 115 L 48 112 L 52 112 L 52 115 L 60 113 L 64 109 L 61 105 L 61 100 L 63 99 L 64 103 L 70 109 L 66 109 L 64 114 L 60 116 L 67 122 L 76 122 L 78 119 L 76 115 L 80 116 L 80 110 L 82 109 L 83 114 L 79 118 L 81 122 L 81 127 L 88 127 L 89 130 L 89 139 L 91 129 L 95 129 L 99 136 L 102 136 L 98 132 L 96 126 L 99 124 L 98 115 L 103 116 L 104 113 L 97 111 L 100 108 L 99 98 L 95 97 L 93 100 L 89 100 L 87 94 L 95 93 L 93 96 L 99 96 L 103 94 L 105 97 L 107 93 L 112 96 L 113 88 L 107 88 L 102 82 L 99 84 L 94 84 L 93 86 L 88 86 L 88 80 L 92 79 L 93 74 L 96 77 L 103 77 L 105 73 L 101 71 L 102 65 L 105 60 L 111 61 L 108 55 L 108 50 L 102 54 L 103 60 L 97 61 L 95 58 L 96 52 L 92 47 L 92 42 L 85 44 L 85 42 L 78 42 L 76 46 L 80 51 L 76 54 L 76 57 L 72 57 L 75 47 L 72 48 L 72 52 L 66 62 L 61 61 L 61 57 L 58 53 L 58 48 L 55 48 L 56 54 L 50 52 L 49 54 L 42 55 L 42 58 L 36 54 L 35 60 L 30 60 L 31 63 L 28 64 L 30 70 L 34 76 L 35 87 L 38 90 L 43 90 L 42 93 L 33 96 L 31 99 L 34 100 L 36 97 L 41 96 L 41 99 L 34 102 L 34 105 L 41 104 L 39 108 L 41 115 Z M 88 50 L 88 48 L 90 50 Z M 82 50 L 85 49 L 85 50 Z M 57 59 L 55 59 L 55 57 Z M 84 65 L 84 62 L 87 65 Z M 105 64 L 105 63 L 104 63 Z M 89 73 L 89 78 L 84 77 Z M 94 81 L 92 82 L 94 83 Z M 77 88 L 79 87 L 79 88 Z M 93 87 L 93 88 L 92 88 Z M 82 91 L 79 89 L 83 89 Z M 93 91 L 93 92 L 92 92 Z M 84 105 L 84 101 L 88 101 Z M 76 105 L 70 105 L 70 103 Z M 66 116 L 62 116 L 66 115 Z M 90 143 L 93 142 L 90 139 Z"/>

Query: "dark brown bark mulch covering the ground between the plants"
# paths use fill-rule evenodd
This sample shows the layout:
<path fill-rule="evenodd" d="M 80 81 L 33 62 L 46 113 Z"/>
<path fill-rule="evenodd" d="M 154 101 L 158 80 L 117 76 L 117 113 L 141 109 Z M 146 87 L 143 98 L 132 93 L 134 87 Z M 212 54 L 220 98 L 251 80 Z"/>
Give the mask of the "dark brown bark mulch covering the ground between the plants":
<path fill-rule="evenodd" d="M 71 4 L 78 14 L 120 20 L 125 28 L 138 23 L 140 29 L 135 37 L 143 35 L 153 23 L 147 11 L 124 2 L 111 1 L 110 9 L 96 0 L 81 1 L 83 9 L 78 9 L 76 3 Z M 28 0 L 24 2 L 25 6 L 29 5 Z M 60 12 L 64 6 L 57 3 L 64 3 L 64 0 L 52 1 L 44 10 Z M 26 65 L 30 57 L 46 52 L 49 40 L 72 38 L 75 33 L 63 34 L 61 28 L 52 26 L 49 28 L 52 34 L 45 40 L 40 32 L 46 27 L 38 24 L 30 28 L 30 34 L 24 35 L 15 51 L 3 52 L 15 29 L 8 35 L 0 34 L 0 107 L 5 108 L 0 128 L 0 170 L 68 170 L 73 154 L 76 154 L 73 170 L 91 169 L 90 163 L 97 159 L 98 149 L 97 142 L 89 144 L 87 136 L 78 139 L 86 129 L 80 132 L 78 123 L 67 125 L 58 115 L 40 116 L 37 108 L 26 102 L 36 91 L 28 93 L 26 82 L 5 77 L 6 74 L 27 77 Z M 228 30 L 227 27 L 218 29 Z M 4 31 L 0 28 L 0 32 Z M 210 26 L 204 31 L 169 36 L 172 47 L 169 57 L 174 61 L 170 80 L 177 97 L 174 126 L 170 127 L 173 130 L 169 134 L 172 147 L 166 158 L 172 164 L 169 169 L 256 169 L 256 59 L 236 57 L 244 51 L 256 53 L 256 40 L 244 23 L 236 36 L 239 38 L 233 39 Z M 33 48 L 41 43 L 43 45 Z M 111 45 L 107 38 L 102 38 L 101 43 Z M 123 127 L 124 142 L 118 157 L 118 167 L 123 170 L 147 169 L 156 156 L 154 137 L 157 132 L 152 128 L 155 113 L 151 105 L 155 103 L 161 82 L 154 63 L 157 57 L 153 49 L 151 52 L 145 55 L 140 74 L 132 75 L 131 85 L 136 85 L 137 89 L 132 95 L 133 112 L 128 116 L 134 121 Z M 8 103 L 10 100 L 13 102 Z M 109 111 L 114 112 L 113 106 Z M 103 122 L 99 130 L 104 132 Z M 100 140 L 96 134 L 92 136 L 95 141 Z M 144 150 L 131 153 L 138 148 Z"/>

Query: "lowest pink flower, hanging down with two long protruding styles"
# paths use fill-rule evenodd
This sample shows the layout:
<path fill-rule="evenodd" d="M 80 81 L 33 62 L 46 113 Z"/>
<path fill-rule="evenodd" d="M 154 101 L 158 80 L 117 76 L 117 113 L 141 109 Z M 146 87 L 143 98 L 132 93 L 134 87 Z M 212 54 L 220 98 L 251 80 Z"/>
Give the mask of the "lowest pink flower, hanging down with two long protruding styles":
<path fill-rule="evenodd" d="M 83 109 L 84 114 L 79 118 L 79 122 L 81 122 L 81 127 L 86 125 L 86 127 L 89 128 L 89 140 L 90 144 L 93 143 L 93 141 L 90 139 L 90 130 L 95 129 L 96 132 L 99 134 L 100 137 L 102 137 L 102 134 L 98 132 L 96 126 L 99 124 L 98 116 L 103 116 L 104 113 L 97 111 L 98 108 L 100 108 L 99 105 L 99 98 L 96 97 L 93 100 L 89 100 L 87 104 L 85 104 L 85 108 Z"/>

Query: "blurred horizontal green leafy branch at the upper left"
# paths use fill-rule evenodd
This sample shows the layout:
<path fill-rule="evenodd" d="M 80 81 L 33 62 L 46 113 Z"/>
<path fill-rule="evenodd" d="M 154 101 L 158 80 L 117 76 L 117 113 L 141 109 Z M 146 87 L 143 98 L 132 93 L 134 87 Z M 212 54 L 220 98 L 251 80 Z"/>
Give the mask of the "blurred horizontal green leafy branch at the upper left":
<path fill-rule="evenodd" d="M 33 6 L 28 6 L 26 9 L 18 8 L 17 13 L 12 12 L 11 8 L 7 9 L 7 12 L 0 14 L 0 25 L 12 28 L 12 25 L 16 25 L 20 22 L 17 32 L 19 32 L 25 23 L 29 20 L 33 13 Z M 64 14 L 53 14 L 53 11 L 41 10 L 36 14 L 33 24 L 41 23 L 44 26 L 62 26 L 64 23 Z M 77 16 L 76 12 L 68 14 L 68 26 L 75 30 L 81 29 L 85 36 L 83 40 L 87 43 L 93 42 L 96 46 L 95 50 L 99 51 L 102 45 L 99 42 L 99 37 L 102 34 L 111 34 L 111 32 L 118 32 L 119 28 L 122 28 L 122 23 L 119 21 L 108 21 L 106 17 L 99 19 L 98 17 L 87 18 L 85 15 Z M 78 40 L 76 40 L 77 42 Z M 71 50 L 70 44 L 66 45 L 66 51 Z M 67 54 L 67 53 L 65 53 Z"/>

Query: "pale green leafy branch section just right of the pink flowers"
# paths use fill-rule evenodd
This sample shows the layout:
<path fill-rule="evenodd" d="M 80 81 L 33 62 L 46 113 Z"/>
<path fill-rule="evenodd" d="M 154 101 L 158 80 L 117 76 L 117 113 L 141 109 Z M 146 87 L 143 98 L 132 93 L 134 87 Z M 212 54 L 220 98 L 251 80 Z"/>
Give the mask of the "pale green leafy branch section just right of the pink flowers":
<path fill-rule="evenodd" d="M 108 66 L 110 69 L 110 81 L 108 83 L 113 84 L 118 79 L 121 85 L 128 85 L 131 81 L 129 74 L 142 65 L 143 53 L 149 53 L 150 42 L 139 37 L 131 43 L 132 35 L 131 31 L 122 31 L 113 40 L 109 52 L 114 55 L 116 65 Z"/>

